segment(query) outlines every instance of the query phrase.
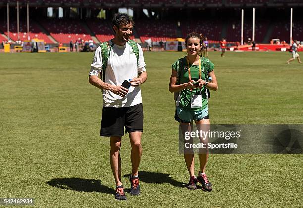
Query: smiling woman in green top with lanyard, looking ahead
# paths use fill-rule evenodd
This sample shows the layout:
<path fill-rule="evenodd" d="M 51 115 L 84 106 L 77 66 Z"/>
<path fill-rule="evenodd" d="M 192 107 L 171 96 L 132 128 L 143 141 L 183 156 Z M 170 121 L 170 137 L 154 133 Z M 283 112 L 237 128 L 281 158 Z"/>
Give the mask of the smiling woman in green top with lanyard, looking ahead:
<path fill-rule="evenodd" d="M 205 87 L 214 91 L 218 89 L 216 76 L 213 72 L 214 64 L 207 58 L 201 58 L 202 43 L 201 34 L 195 32 L 188 34 L 185 39 L 188 55 L 178 59 L 172 65 L 169 91 L 178 92 L 175 119 L 180 122 L 180 126 L 183 126 L 181 127 L 183 133 L 192 130 L 193 121 L 195 121 L 198 130 L 201 129 L 201 126 L 210 124 Z M 207 80 L 210 76 L 212 82 Z M 197 182 L 199 182 L 204 190 L 211 191 L 212 185 L 205 174 L 208 151 L 199 152 L 200 171 L 197 178 L 194 173 L 194 153 L 184 153 L 184 159 L 190 174 L 187 188 L 196 189 Z"/>

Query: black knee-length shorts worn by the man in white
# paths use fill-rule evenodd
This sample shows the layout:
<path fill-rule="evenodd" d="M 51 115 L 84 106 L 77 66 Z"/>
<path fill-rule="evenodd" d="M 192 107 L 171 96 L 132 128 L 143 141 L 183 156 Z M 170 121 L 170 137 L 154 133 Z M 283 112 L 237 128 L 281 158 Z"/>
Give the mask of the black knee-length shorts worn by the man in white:
<path fill-rule="evenodd" d="M 123 136 L 125 133 L 143 131 L 142 103 L 130 107 L 103 107 L 100 136 Z"/>

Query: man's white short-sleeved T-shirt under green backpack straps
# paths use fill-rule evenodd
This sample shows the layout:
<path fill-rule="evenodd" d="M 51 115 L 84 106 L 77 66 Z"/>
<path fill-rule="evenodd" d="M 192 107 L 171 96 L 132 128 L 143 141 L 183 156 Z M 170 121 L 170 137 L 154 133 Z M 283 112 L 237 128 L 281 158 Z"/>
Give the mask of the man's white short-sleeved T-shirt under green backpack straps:
<path fill-rule="evenodd" d="M 113 45 L 112 41 L 109 41 L 108 43 L 110 46 Z M 129 79 L 138 77 L 139 73 L 146 71 L 142 48 L 138 43 L 137 45 L 139 49 L 138 64 L 136 55 L 129 42 L 123 46 L 114 44 L 110 47 L 108 64 L 105 71 L 105 83 L 121 85 L 124 80 L 129 81 Z M 101 47 L 98 47 L 95 51 L 89 75 L 98 76 L 102 70 L 102 66 Z M 102 93 L 104 107 L 130 107 L 142 103 L 139 86 L 131 86 L 124 97 L 116 95 L 110 90 L 103 90 Z"/>

